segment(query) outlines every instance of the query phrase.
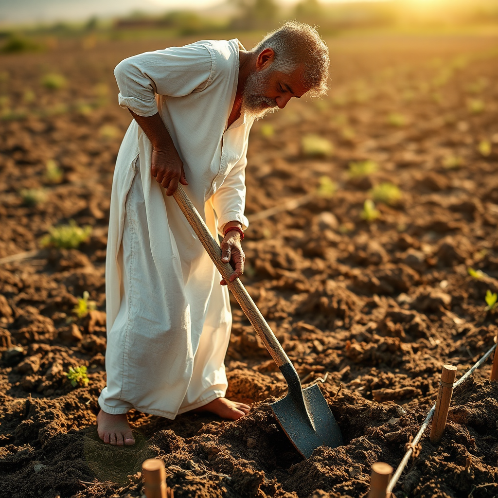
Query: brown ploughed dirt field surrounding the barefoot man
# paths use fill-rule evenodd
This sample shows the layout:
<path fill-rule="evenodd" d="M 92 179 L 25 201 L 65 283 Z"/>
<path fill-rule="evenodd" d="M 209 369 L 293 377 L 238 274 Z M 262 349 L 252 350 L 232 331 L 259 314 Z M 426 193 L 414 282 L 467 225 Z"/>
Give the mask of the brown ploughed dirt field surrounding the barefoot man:
<path fill-rule="evenodd" d="M 268 405 L 286 384 L 235 302 L 228 396 L 251 402 L 249 415 L 131 412 L 134 447 L 99 440 L 109 200 L 130 122 L 112 70 L 189 41 L 73 40 L 0 56 L 0 258 L 38 249 L 70 219 L 93 227 L 79 249 L 0 265 L 2 498 L 140 497 L 149 457 L 165 461 L 177 498 L 365 498 L 372 464 L 396 468 L 418 432 L 442 365 L 457 366 L 458 379 L 493 346 L 498 311 L 485 296 L 498 292 L 497 38 L 331 38 L 329 97 L 291 102 L 253 126 L 247 214 L 313 194 L 323 176 L 337 191 L 254 221 L 243 281 L 303 383 L 328 374 L 320 385 L 345 445 L 299 456 Z M 66 86 L 43 86 L 50 73 Z M 399 198 L 378 200 L 385 182 Z M 97 310 L 78 318 L 85 291 Z M 90 383 L 73 388 L 64 372 L 81 365 Z M 490 369 L 455 390 L 441 444 L 422 438 L 397 498 L 498 496 Z"/>

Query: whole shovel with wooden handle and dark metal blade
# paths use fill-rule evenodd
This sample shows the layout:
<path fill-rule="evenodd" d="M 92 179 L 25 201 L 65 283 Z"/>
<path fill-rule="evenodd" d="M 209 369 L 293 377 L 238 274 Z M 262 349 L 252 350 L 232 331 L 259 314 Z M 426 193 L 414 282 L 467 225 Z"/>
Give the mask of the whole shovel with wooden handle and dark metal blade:
<path fill-rule="evenodd" d="M 238 278 L 233 282 L 229 281 L 228 277 L 233 272 L 232 266 L 222 262 L 219 244 L 181 185 L 178 185 L 173 197 L 287 381 L 286 396 L 270 403 L 273 414 L 285 434 L 304 458 L 309 458 L 319 446 L 341 446 L 341 430 L 318 385 L 305 389 L 301 387 L 296 369 L 242 282 Z"/>

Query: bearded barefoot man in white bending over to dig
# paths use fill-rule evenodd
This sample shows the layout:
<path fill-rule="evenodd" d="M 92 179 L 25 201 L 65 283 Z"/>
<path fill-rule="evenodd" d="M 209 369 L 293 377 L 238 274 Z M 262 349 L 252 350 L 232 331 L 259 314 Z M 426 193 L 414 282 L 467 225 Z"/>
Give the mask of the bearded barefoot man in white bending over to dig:
<path fill-rule="evenodd" d="M 185 186 L 212 234 L 224 237 L 230 280 L 239 277 L 250 127 L 293 97 L 324 93 L 328 64 L 317 31 L 287 22 L 250 51 L 237 39 L 200 41 L 116 67 L 120 105 L 134 120 L 111 197 L 107 386 L 97 417 L 104 442 L 134 443 L 130 408 L 170 419 L 196 409 L 232 420 L 248 412 L 224 397 L 228 290 L 171 196 Z"/>

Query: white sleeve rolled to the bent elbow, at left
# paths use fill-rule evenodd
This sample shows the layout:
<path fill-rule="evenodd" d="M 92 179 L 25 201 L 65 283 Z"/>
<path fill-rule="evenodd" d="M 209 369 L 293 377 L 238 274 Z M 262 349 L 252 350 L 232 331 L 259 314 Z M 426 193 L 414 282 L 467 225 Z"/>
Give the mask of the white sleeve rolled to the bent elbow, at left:
<path fill-rule="evenodd" d="M 214 71 L 209 50 L 198 44 L 128 57 L 114 70 L 119 104 L 138 116 L 153 116 L 157 113 L 155 94 L 183 97 L 201 92 Z"/>

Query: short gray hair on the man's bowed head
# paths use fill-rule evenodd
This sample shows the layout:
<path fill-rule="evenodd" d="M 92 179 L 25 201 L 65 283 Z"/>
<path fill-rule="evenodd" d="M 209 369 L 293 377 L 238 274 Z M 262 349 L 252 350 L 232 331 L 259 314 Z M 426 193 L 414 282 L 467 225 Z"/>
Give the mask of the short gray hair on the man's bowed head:
<path fill-rule="evenodd" d="M 317 97 L 327 92 L 329 49 L 314 27 L 298 21 L 287 21 L 268 33 L 249 53 L 257 56 L 265 48 L 275 51 L 272 70 L 291 74 L 303 65 L 301 81 L 310 88 L 310 95 Z"/>

